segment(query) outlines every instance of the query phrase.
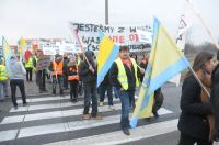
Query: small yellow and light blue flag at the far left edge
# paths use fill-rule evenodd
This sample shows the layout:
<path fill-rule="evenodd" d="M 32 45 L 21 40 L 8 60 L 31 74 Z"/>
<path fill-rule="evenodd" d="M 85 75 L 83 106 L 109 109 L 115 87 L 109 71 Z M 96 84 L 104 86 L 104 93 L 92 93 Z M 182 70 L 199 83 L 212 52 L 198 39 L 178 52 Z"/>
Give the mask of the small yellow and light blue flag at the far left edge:
<path fill-rule="evenodd" d="M 3 48 L 3 57 L 5 59 L 7 71 L 9 72 L 10 71 L 9 63 L 10 63 L 10 58 L 12 56 L 12 52 L 11 52 L 11 47 L 7 43 L 7 40 L 4 38 L 4 36 L 2 36 L 2 48 Z"/>

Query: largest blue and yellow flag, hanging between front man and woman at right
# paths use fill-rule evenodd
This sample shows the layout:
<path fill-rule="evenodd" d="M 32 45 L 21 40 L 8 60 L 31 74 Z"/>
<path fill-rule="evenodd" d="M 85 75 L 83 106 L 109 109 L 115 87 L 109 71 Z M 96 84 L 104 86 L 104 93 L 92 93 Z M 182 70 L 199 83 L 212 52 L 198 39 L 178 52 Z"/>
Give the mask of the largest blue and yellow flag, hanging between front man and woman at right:
<path fill-rule="evenodd" d="M 184 70 L 189 63 L 158 19 L 153 23 L 153 45 L 146 69 L 139 98 L 130 120 L 131 127 L 138 119 L 150 118 L 153 105 L 153 92 L 165 81 Z"/>

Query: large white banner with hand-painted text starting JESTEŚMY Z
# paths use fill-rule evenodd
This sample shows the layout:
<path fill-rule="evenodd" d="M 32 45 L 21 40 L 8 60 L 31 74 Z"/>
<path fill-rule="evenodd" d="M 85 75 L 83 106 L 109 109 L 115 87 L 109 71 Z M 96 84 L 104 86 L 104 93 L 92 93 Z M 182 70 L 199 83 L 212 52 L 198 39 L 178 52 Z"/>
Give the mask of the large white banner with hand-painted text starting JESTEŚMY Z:
<path fill-rule="evenodd" d="M 78 35 L 81 37 L 82 43 L 94 52 L 99 51 L 99 44 L 101 41 L 100 33 L 107 34 L 115 44 L 128 45 L 130 52 L 142 52 L 150 47 L 149 43 L 140 42 L 137 29 L 151 32 L 151 27 L 145 26 L 108 26 L 101 24 L 87 24 L 87 23 L 70 23 L 71 32 L 73 33 L 77 27 Z"/>

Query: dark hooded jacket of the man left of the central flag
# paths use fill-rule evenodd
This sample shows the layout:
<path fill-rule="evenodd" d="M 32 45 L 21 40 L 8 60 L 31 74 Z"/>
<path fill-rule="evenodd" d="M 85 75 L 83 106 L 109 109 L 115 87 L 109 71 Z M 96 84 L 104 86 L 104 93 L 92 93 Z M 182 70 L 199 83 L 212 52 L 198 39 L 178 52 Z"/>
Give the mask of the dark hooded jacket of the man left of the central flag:
<path fill-rule="evenodd" d="M 85 56 L 87 56 L 89 63 L 92 65 L 94 71 L 95 71 L 94 74 L 89 69 L 89 64 L 87 63 L 85 59 L 82 60 L 79 65 L 79 77 L 83 81 L 83 83 L 96 82 L 97 70 L 96 70 L 95 63 L 91 59 L 92 55 L 93 54 L 92 54 L 91 51 L 85 52 Z"/>

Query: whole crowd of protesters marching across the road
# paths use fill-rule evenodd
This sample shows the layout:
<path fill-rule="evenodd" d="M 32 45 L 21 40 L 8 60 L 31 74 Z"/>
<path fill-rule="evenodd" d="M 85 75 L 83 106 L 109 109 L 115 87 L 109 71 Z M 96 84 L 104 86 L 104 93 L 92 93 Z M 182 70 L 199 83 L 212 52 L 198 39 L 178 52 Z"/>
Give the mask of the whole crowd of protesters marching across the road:
<path fill-rule="evenodd" d="M 26 78 L 27 82 L 34 83 L 33 76 L 35 76 L 35 82 L 39 93 L 47 92 L 54 96 L 61 96 L 67 93 L 65 92 L 66 90 L 70 89 L 69 99 L 72 103 L 77 103 L 79 96 L 83 93 L 83 111 L 81 112 L 83 120 L 103 120 L 102 114 L 99 112 L 99 107 L 104 105 L 104 99 L 107 92 L 110 110 L 115 109 L 114 96 L 119 98 L 122 103 L 120 127 L 125 135 L 130 135 L 129 113 L 136 108 L 136 87 L 143 81 L 145 69 L 148 64 L 148 57 L 146 55 L 143 55 L 141 62 L 138 63 L 137 56 L 130 56 L 127 46 L 120 46 L 117 59 L 112 65 L 99 88 L 96 88 L 99 66 L 95 60 L 95 54 L 92 51 L 87 51 L 81 55 L 65 54 L 61 56 L 56 54 L 47 68 L 37 69 L 37 63 L 42 56 L 44 55 L 41 49 L 38 49 L 36 54 L 31 54 L 28 58 L 24 58 L 23 62 L 20 62 L 18 56 L 12 55 L 10 57 L 9 72 L 7 71 L 4 58 L 1 56 L 1 103 L 11 94 L 13 107 L 16 110 L 16 87 L 19 87 L 23 105 L 28 105 L 24 80 Z M 181 132 L 180 145 L 192 145 L 194 143 L 210 145 L 212 144 L 212 140 L 218 140 L 219 131 L 217 114 L 217 96 L 219 88 L 216 54 L 209 52 L 198 54 L 195 58 L 193 69 L 208 90 L 212 88 L 211 99 L 210 101 L 206 99 L 205 91 L 195 77 L 188 72 L 182 87 L 182 114 L 178 122 L 178 130 Z M 51 80 L 51 90 L 46 86 L 46 79 Z M 8 90 L 9 85 L 11 92 Z M 158 110 L 162 105 L 162 102 L 163 94 L 161 88 L 159 88 L 154 93 L 154 103 L 152 108 L 154 118 L 159 116 Z M 90 107 L 91 111 L 89 111 Z M 216 120 L 212 121 L 212 119 Z"/>

